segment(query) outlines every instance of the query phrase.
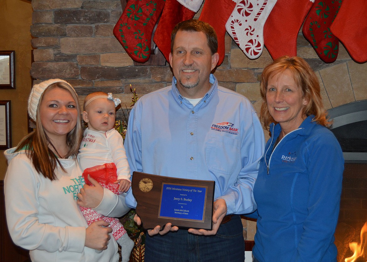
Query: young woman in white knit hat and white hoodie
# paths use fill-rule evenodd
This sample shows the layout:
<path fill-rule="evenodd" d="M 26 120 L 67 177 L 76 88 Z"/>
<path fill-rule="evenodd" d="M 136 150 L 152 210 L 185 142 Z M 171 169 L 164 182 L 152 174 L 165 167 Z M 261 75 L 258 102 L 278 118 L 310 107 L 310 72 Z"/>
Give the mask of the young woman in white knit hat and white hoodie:
<path fill-rule="evenodd" d="M 61 79 L 36 84 L 28 112 L 36 129 L 5 152 L 9 163 L 5 204 L 12 240 L 30 250 L 32 261 L 118 261 L 117 244 L 109 243 L 108 223 L 88 226 L 76 203 L 77 196 L 88 200 L 90 195 L 82 189 L 84 179 L 76 163 L 82 129 L 75 90 Z M 103 188 L 95 185 L 94 190 L 102 190 L 103 195 Z M 84 195 L 78 194 L 80 189 Z M 102 198 L 113 199 L 110 193 L 79 204 L 96 207 Z M 109 209 L 118 202 L 123 214 L 128 208 L 123 208 L 122 200 L 100 205 Z"/>

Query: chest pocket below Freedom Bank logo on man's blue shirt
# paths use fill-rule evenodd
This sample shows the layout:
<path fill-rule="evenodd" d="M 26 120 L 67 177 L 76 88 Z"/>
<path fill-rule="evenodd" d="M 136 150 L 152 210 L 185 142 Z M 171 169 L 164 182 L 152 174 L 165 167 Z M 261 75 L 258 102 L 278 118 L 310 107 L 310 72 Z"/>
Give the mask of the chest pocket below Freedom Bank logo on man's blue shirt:
<path fill-rule="evenodd" d="M 209 134 L 205 153 L 206 164 L 210 171 L 230 175 L 240 161 L 240 141 Z"/>

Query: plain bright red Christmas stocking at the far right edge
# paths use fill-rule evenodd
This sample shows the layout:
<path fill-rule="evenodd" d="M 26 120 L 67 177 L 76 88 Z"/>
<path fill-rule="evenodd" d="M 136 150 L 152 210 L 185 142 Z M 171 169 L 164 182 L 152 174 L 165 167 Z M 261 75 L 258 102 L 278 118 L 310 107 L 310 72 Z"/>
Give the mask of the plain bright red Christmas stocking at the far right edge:
<path fill-rule="evenodd" d="M 366 0 L 344 0 L 330 30 L 355 61 L 367 61 Z"/>

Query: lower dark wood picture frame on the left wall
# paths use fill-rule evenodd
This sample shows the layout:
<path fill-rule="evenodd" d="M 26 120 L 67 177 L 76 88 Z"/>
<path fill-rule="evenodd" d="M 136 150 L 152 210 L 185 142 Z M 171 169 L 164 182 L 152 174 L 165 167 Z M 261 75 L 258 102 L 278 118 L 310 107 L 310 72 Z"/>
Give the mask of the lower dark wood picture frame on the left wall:
<path fill-rule="evenodd" d="M 10 100 L 0 100 L 0 150 L 11 148 Z"/>

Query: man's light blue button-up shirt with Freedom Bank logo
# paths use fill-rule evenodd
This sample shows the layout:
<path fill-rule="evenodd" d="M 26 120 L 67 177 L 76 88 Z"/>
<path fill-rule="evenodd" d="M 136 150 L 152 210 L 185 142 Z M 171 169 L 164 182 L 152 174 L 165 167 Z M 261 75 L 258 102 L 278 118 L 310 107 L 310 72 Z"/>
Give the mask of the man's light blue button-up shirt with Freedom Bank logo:
<path fill-rule="evenodd" d="M 218 86 L 196 106 L 172 86 L 144 95 L 131 110 L 125 149 L 133 171 L 214 180 L 227 214 L 256 209 L 252 189 L 264 152 L 264 132 L 250 101 Z M 136 207 L 131 189 L 126 203 Z"/>

